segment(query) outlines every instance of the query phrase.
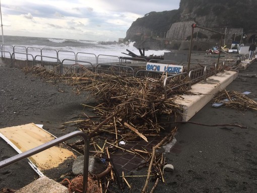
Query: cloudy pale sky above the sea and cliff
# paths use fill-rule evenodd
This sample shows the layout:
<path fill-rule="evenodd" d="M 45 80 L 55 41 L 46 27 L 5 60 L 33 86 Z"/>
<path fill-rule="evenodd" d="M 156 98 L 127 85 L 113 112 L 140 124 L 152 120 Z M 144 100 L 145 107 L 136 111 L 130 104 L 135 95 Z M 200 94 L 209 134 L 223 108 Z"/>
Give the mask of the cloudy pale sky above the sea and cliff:
<path fill-rule="evenodd" d="M 138 18 L 180 0 L 0 0 L 4 35 L 118 41 Z M 2 34 L 1 34 L 2 35 Z"/>

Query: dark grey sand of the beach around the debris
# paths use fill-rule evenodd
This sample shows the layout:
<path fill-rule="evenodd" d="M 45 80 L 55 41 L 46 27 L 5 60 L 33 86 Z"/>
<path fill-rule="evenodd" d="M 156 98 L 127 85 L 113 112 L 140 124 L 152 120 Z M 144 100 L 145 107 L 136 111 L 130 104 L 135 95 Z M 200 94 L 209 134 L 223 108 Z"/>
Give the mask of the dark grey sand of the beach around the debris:
<path fill-rule="evenodd" d="M 202 60 L 207 57 L 202 57 Z M 214 58 L 216 59 L 216 58 Z M 239 76 L 227 91 L 251 92 L 257 100 L 257 62 Z M 251 76 L 252 75 L 252 76 Z M 76 131 L 75 126 L 59 130 L 59 125 L 75 120 L 83 112 L 81 103 L 91 103 L 87 93 L 76 95 L 68 85 L 52 85 L 26 75 L 20 69 L 0 67 L 0 127 L 30 122 L 43 124 L 56 137 Z M 160 182 L 155 192 L 254 192 L 257 189 L 257 131 L 256 111 L 238 111 L 226 106 L 212 107 L 210 101 L 190 121 L 181 124 L 176 143 L 165 153 L 173 172 L 165 172 L 166 184 Z M 85 109 L 84 109 L 85 110 Z M 87 109 L 86 109 L 87 110 Z M 90 113 L 90 110 L 87 110 Z M 246 129 L 231 126 L 203 126 L 202 124 L 236 123 Z M 0 160 L 16 152 L 0 139 Z M 135 174 L 147 173 L 143 168 Z M 38 178 L 31 167 L 22 161 L 0 170 L 0 189 L 19 189 Z M 145 178 L 130 178 L 131 192 L 141 192 Z M 154 182 L 150 182 L 150 186 Z M 124 189 L 124 192 L 130 192 Z"/>

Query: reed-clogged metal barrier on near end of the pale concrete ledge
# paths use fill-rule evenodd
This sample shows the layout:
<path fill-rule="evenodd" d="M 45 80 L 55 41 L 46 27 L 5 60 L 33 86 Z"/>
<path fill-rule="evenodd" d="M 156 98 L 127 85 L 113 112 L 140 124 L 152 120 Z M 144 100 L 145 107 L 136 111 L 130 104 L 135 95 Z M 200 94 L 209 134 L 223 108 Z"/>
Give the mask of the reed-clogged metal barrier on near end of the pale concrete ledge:
<path fill-rule="evenodd" d="M 188 81 L 188 75 L 187 73 L 181 73 L 181 74 L 177 74 L 177 75 L 174 75 L 174 76 L 169 76 L 169 77 L 166 77 L 163 81 L 163 90 L 164 90 L 164 95 L 165 97 L 168 97 L 170 93 L 167 93 L 168 90 L 170 90 L 171 92 L 174 91 L 174 89 L 176 89 L 177 87 L 180 87 L 180 86 L 186 86 L 189 84 L 189 81 Z M 178 79 L 178 80 L 175 80 L 175 79 Z M 176 86 L 174 86 L 174 82 L 177 82 L 178 84 Z M 168 84 L 169 82 L 172 83 L 172 87 L 170 87 Z M 180 83 L 180 84 L 179 84 Z"/>

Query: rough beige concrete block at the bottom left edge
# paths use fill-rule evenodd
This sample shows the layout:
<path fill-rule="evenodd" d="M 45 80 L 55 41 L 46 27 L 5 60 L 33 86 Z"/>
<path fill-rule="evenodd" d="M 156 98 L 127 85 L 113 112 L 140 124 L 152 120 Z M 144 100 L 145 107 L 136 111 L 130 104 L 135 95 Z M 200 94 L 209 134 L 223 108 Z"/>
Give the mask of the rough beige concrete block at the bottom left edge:
<path fill-rule="evenodd" d="M 69 193 L 67 187 L 60 183 L 49 179 L 48 177 L 40 177 L 32 183 L 24 186 L 16 191 L 16 193 Z"/>

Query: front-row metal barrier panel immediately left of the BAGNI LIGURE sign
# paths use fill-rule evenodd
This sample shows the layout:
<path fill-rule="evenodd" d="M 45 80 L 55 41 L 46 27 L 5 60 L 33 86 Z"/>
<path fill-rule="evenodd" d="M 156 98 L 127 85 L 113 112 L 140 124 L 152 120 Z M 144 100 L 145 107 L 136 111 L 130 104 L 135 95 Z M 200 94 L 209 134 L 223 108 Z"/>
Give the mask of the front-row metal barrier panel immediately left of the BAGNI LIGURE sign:
<path fill-rule="evenodd" d="M 96 66 L 96 73 L 114 74 L 117 76 L 132 76 L 134 77 L 135 71 L 131 67 L 120 66 L 120 65 L 109 65 L 99 63 Z"/>

